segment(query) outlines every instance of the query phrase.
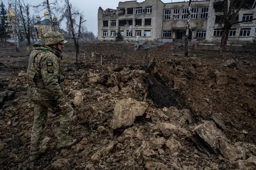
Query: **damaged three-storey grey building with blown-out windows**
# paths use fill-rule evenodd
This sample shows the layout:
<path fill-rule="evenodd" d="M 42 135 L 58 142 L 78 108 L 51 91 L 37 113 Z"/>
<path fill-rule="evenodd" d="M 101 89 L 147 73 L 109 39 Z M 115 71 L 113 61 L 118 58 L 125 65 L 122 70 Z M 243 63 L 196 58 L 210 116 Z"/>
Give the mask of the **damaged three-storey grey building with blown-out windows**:
<path fill-rule="evenodd" d="M 256 18 L 256 0 L 245 0 L 235 22 Z M 223 34 L 223 0 L 192 1 L 189 39 L 219 41 Z M 120 27 L 125 40 L 184 39 L 186 2 L 161 0 L 119 2 L 117 9 L 98 10 L 99 40 L 115 40 Z M 252 41 L 256 38 L 256 20 L 234 24 L 229 40 Z"/>

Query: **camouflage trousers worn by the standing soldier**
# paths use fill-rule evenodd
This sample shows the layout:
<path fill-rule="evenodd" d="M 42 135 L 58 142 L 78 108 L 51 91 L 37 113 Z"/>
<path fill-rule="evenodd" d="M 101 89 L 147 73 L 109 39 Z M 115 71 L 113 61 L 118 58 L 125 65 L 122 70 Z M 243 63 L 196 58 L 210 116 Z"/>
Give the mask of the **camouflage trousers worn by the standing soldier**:
<path fill-rule="evenodd" d="M 42 130 L 46 126 L 48 108 L 54 110 L 58 107 L 58 103 L 52 101 L 37 101 L 31 100 L 34 103 L 34 123 L 31 131 L 31 154 L 40 152 L 40 143 L 42 137 Z M 65 140 L 69 132 L 69 125 L 72 121 L 74 110 L 67 104 L 66 108 L 59 108 L 60 127 L 55 136 L 60 140 Z"/>

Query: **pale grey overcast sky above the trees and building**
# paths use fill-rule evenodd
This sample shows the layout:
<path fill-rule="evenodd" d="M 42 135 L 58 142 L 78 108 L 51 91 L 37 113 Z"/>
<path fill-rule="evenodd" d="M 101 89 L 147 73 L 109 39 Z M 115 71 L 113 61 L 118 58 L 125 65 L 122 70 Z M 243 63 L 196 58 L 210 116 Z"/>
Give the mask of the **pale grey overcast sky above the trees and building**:
<path fill-rule="evenodd" d="M 8 0 L 2 0 L 6 7 L 8 8 Z M 24 0 L 25 3 L 30 3 L 31 5 L 38 5 L 40 2 L 43 2 L 43 0 Z M 52 0 L 49 0 L 50 2 Z M 63 1 L 63 0 L 60 0 Z M 95 35 L 97 35 L 97 14 L 99 7 L 102 7 L 102 9 L 112 8 L 116 9 L 118 6 L 118 2 L 124 2 L 128 0 L 69 0 L 70 3 L 72 3 L 73 6 L 76 6 L 80 9 L 80 11 L 83 13 L 84 20 L 87 20 L 84 22 L 84 25 L 86 26 L 88 31 L 92 31 Z M 137 0 L 137 2 L 143 2 L 144 0 Z M 171 0 L 162 0 L 164 3 L 171 2 Z M 184 1 L 184 0 L 173 0 L 173 2 L 178 1 Z M 34 10 L 32 10 L 35 15 Z M 39 13 L 40 16 L 43 16 L 44 12 Z M 58 16 L 57 16 L 58 17 Z M 61 28 L 65 28 L 65 23 L 61 23 Z"/>

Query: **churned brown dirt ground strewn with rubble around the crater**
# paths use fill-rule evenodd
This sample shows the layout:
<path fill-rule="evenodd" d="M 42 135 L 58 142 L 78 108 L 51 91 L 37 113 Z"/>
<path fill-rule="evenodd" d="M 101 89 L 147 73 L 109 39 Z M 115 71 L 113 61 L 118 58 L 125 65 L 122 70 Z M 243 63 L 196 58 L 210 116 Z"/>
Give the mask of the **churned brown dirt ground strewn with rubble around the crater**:
<path fill-rule="evenodd" d="M 0 47 L 1 170 L 256 168 L 256 160 L 245 167 L 237 162 L 256 156 L 255 46 L 229 46 L 220 58 L 217 46 L 198 45 L 183 57 L 177 43 L 134 51 L 133 43 L 94 42 L 81 44 L 76 63 L 73 44 L 67 44 L 64 91 L 75 109 L 70 135 L 78 143 L 56 148 L 59 115 L 49 110 L 45 153 L 34 162 L 29 160 L 33 103 L 25 77 L 29 52 L 25 46 L 18 53 L 5 47 Z M 115 107 L 128 98 L 147 108 L 132 125 L 115 129 Z M 171 116 L 185 111 L 191 118 Z M 221 147 L 213 154 L 200 149 L 194 129 L 206 121 L 216 124 L 229 145 L 243 148 L 244 157 L 231 159 Z M 175 126 L 169 135 L 161 129 L 167 123 Z"/>

